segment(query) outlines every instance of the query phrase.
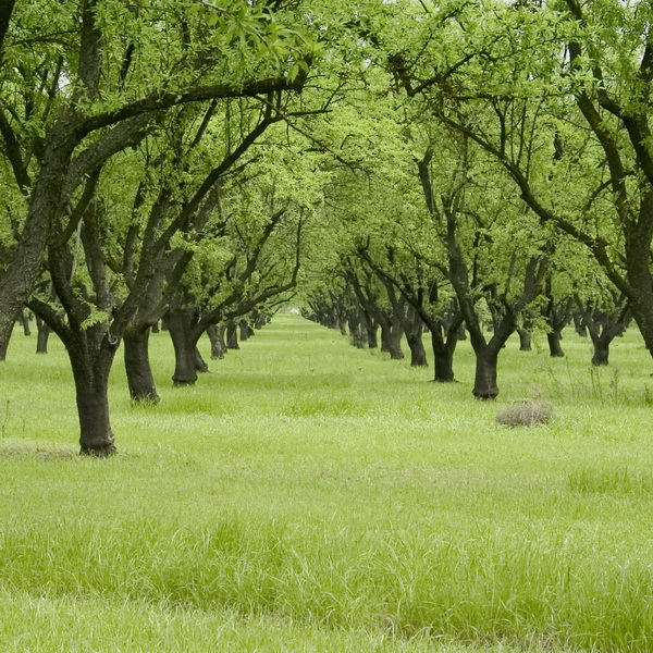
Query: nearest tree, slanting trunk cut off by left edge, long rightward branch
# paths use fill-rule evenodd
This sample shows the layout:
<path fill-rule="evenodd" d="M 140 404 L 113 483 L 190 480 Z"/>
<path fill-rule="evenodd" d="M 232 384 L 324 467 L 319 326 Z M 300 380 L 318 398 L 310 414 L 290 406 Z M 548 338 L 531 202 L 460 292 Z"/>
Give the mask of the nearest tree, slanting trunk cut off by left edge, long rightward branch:
<path fill-rule="evenodd" d="M 301 88 L 316 42 L 278 20 L 296 17 L 281 11 L 291 4 L 243 1 L 207 14 L 202 3 L 163 1 L 3 3 L 0 137 L 25 218 L 3 251 L 0 358 L 52 225 L 74 232 L 102 164 L 173 107 Z"/>

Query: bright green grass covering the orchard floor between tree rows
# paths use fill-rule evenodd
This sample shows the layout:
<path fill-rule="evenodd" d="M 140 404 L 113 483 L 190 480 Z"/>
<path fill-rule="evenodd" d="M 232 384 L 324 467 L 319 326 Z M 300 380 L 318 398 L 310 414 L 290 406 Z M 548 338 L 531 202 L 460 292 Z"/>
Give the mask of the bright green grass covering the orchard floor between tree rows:
<path fill-rule="evenodd" d="M 653 365 L 510 342 L 496 404 L 295 316 L 75 455 L 65 354 L 0 367 L 0 651 L 651 651 Z M 202 345 L 208 349 L 208 343 Z M 546 426 L 495 423 L 512 399 Z"/>

